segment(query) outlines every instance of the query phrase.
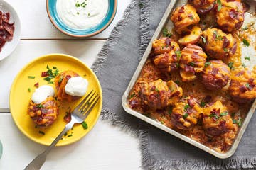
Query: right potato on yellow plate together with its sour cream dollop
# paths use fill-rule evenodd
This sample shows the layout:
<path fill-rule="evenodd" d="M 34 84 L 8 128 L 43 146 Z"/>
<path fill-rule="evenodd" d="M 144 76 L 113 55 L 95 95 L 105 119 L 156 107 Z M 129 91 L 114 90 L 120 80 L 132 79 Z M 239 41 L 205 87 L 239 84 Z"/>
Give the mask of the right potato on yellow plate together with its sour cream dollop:
<path fill-rule="evenodd" d="M 62 72 L 54 81 L 59 101 L 75 101 L 85 95 L 88 81 L 71 70 Z"/>

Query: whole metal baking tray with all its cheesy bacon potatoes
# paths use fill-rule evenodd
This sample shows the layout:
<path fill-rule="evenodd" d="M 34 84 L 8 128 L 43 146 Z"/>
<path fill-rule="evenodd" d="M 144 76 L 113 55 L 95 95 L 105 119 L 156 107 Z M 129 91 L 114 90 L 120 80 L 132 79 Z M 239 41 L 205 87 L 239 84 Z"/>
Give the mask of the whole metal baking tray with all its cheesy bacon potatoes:
<path fill-rule="evenodd" d="M 124 92 L 127 113 L 222 159 L 255 111 L 255 6 L 171 1 Z"/>

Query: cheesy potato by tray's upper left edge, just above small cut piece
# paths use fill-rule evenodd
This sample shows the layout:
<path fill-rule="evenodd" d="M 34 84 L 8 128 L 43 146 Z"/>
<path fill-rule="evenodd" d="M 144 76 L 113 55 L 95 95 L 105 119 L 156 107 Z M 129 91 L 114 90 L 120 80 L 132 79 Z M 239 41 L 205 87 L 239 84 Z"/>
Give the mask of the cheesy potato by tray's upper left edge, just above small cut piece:
<path fill-rule="evenodd" d="M 193 26 L 200 21 L 196 8 L 190 4 L 180 6 L 174 10 L 171 15 L 171 21 L 173 21 L 175 30 L 181 34 L 183 32 L 189 32 L 188 26 Z"/>

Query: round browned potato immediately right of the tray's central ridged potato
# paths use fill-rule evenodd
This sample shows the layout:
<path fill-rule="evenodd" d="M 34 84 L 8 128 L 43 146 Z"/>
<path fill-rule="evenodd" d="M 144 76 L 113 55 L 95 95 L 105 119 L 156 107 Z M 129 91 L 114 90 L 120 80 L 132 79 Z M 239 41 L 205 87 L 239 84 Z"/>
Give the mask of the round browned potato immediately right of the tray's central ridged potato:
<path fill-rule="evenodd" d="M 221 60 L 210 60 L 203 69 L 202 83 L 209 90 L 222 89 L 230 80 L 230 67 Z"/>

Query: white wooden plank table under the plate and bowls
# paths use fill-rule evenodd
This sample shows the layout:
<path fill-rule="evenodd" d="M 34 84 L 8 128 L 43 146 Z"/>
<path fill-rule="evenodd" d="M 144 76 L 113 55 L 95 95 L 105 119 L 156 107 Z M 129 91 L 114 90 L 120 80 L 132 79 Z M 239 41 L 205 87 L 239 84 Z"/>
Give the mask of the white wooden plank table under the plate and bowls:
<path fill-rule="evenodd" d="M 65 53 L 91 66 L 112 28 L 122 17 L 130 0 L 118 1 L 117 15 L 104 32 L 86 40 L 75 40 L 60 33 L 50 23 L 45 0 L 6 0 L 21 18 L 21 42 L 5 60 L 0 61 L 0 108 L 9 108 L 9 91 L 18 71 L 29 61 L 48 53 Z M 3 111 L 3 110 L 2 110 Z M 46 147 L 23 135 L 10 113 L 0 113 L 0 140 L 4 153 L 0 169 L 23 169 Z M 65 147 L 56 147 L 42 169 L 139 169 L 139 141 L 118 128 L 98 120 L 92 131 Z"/>

